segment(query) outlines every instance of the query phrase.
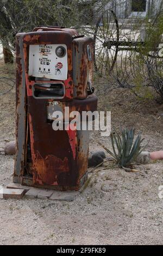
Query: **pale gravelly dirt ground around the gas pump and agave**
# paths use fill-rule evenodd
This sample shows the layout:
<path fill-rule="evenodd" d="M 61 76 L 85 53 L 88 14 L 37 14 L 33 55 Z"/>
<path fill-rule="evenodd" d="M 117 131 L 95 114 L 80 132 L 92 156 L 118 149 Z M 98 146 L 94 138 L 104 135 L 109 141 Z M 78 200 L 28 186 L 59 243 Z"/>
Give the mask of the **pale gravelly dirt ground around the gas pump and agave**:
<path fill-rule="evenodd" d="M 14 78 L 14 67 L 1 61 L 0 76 Z M 99 97 L 99 110 L 111 110 L 112 129 L 134 126 L 142 132 L 145 144 L 150 140 L 147 150 L 162 149 L 163 105 L 154 99 L 138 101 L 127 90 L 118 89 Z M 99 132 L 91 136 L 111 149 L 108 137 Z M 14 138 L 15 88 L 0 96 L 0 148 Z M 90 151 L 98 149 L 90 139 Z M 108 163 L 108 169 L 93 174 L 73 202 L 0 200 L 0 244 L 162 245 L 163 199 L 158 197 L 162 162 L 137 166 L 144 175 L 111 166 Z M 0 185 L 12 181 L 13 169 L 14 156 L 0 155 Z"/>

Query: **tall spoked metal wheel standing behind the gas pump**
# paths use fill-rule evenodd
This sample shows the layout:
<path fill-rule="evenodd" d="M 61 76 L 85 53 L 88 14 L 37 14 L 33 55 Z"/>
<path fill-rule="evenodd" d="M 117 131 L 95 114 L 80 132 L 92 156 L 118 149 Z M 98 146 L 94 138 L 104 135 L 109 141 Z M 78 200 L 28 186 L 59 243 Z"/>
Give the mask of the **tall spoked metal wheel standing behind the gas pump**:
<path fill-rule="evenodd" d="M 120 31 L 117 17 L 112 10 L 106 10 L 98 19 L 94 41 L 94 66 L 101 77 L 108 77 L 116 64 Z"/>

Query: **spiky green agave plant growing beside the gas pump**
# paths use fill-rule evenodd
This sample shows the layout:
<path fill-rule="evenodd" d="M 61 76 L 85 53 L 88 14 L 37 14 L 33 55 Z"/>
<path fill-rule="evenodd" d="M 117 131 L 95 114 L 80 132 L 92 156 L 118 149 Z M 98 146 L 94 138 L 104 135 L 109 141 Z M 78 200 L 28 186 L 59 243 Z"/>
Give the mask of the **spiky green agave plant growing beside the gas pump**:
<path fill-rule="evenodd" d="M 143 139 L 141 133 L 135 138 L 135 129 L 123 129 L 122 136 L 117 132 L 111 132 L 110 135 L 112 151 L 105 148 L 103 144 L 99 143 L 114 159 L 118 166 L 122 168 L 129 167 L 131 163 L 136 160 L 136 157 L 145 149 L 141 147 Z"/>

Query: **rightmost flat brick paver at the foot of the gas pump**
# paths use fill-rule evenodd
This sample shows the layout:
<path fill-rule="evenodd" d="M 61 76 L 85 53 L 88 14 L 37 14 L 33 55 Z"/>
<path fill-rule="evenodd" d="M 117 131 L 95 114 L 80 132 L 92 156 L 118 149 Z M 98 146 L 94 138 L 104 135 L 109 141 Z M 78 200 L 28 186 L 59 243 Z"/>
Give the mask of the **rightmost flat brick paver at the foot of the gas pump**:
<path fill-rule="evenodd" d="M 79 192 L 74 192 L 74 191 L 70 191 L 70 192 L 58 192 L 58 191 L 55 191 L 53 192 L 52 196 L 49 198 L 51 200 L 60 200 L 60 201 L 73 201 L 77 194 Z"/>

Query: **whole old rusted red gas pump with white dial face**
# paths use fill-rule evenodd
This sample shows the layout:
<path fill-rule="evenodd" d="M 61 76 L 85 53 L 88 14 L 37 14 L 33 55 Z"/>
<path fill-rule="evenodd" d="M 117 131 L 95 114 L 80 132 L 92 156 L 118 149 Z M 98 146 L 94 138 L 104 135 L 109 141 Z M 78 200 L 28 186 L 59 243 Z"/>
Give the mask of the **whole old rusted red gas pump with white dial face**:
<path fill-rule="evenodd" d="M 16 65 L 14 182 L 78 190 L 87 178 L 89 131 L 54 131 L 53 112 L 97 109 L 93 41 L 74 29 L 38 27 L 16 35 Z"/>

